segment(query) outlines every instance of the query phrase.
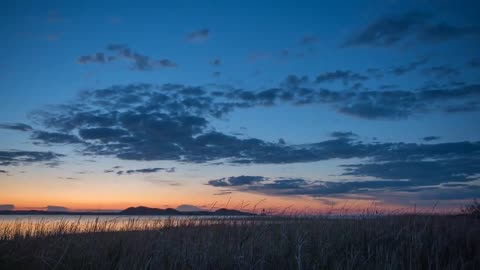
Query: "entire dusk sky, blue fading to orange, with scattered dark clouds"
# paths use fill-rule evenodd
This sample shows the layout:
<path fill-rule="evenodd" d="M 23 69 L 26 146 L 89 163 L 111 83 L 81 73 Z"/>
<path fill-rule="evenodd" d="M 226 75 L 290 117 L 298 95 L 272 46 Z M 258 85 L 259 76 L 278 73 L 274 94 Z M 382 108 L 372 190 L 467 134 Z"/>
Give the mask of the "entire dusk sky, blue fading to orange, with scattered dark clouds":
<path fill-rule="evenodd" d="M 458 209 L 480 195 L 478 10 L 3 1 L 0 209 Z"/>

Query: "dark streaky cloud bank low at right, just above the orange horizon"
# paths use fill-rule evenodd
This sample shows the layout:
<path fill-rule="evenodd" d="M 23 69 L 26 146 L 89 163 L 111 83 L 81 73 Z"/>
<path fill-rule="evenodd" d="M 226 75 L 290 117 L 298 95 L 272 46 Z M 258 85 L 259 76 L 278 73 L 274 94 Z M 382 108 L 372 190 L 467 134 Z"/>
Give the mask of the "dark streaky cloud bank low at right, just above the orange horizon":
<path fill-rule="evenodd" d="M 310 145 L 316 160 L 357 158 L 361 163 L 340 165 L 341 181 L 306 180 L 302 178 L 269 178 L 263 176 L 226 177 L 208 181 L 213 187 L 268 195 L 303 195 L 338 197 L 346 194 L 425 193 L 434 197 L 435 190 L 455 197 L 457 188 L 465 198 L 480 180 L 480 142 L 455 143 L 364 143 L 352 139 L 348 132 L 335 132 L 334 140 Z M 361 180 L 358 180 L 361 179 Z M 472 186 L 473 185 L 473 186 Z M 231 191 L 229 190 L 229 191 Z M 462 195 L 455 197 L 464 198 Z M 388 199 L 388 198 L 384 198 Z"/>

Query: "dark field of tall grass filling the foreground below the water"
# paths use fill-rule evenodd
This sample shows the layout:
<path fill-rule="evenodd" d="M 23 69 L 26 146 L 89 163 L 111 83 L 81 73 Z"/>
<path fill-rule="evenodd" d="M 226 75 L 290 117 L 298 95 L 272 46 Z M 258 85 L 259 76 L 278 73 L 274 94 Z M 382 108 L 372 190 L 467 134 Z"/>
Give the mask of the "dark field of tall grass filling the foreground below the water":
<path fill-rule="evenodd" d="M 480 221 L 467 216 L 30 226 L 0 225 L 0 269 L 480 269 Z"/>

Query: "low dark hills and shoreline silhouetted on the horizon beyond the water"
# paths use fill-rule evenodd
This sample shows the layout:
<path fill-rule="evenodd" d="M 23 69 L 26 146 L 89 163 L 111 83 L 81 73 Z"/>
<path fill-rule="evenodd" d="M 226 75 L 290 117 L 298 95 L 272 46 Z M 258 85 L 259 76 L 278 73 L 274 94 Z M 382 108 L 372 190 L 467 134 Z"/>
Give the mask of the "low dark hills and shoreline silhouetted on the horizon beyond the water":
<path fill-rule="evenodd" d="M 178 211 L 173 208 L 129 207 L 121 211 L 46 211 L 46 210 L 1 210 L 0 215 L 124 215 L 124 216 L 255 216 L 250 212 L 220 208 L 215 211 Z"/>

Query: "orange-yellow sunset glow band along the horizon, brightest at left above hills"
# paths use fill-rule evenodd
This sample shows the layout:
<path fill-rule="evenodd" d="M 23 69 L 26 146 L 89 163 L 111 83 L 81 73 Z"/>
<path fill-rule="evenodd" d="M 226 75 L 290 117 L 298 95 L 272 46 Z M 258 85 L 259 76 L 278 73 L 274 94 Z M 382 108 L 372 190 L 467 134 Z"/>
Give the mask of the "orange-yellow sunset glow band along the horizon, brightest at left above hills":
<path fill-rule="evenodd" d="M 145 181 L 138 176 L 88 175 L 81 180 L 65 180 L 39 172 L 1 176 L 0 204 L 13 204 L 16 209 L 42 209 L 47 205 L 70 210 L 122 210 L 132 206 L 176 208 L 182 204 L 206 210 L 228 207 L 244 211 L 327 213 L 332 209 L 351 212 L 365 209 L 394 211 L 405 205 L 377 203 L 372 198 L 312 198 L 307 196 L 268 196 L 235 191 L 214 195 L 218 189 L 198 179 L 185 179 L 172 185 L 171 181 Z M 335 205 L 332 205 L 334 203 Z M 256 206 L 256 207 L 255 207 Z M 433 206 L 433 203 L 432 203 Z M 417 207 L 428 210 L 432 206 Z M 442 206 L 438 206 L 438 209 Z M 458 207 L 457 207 L 458 208 Z M 444 208 L 447 209 L 447 208 Z M 453 209 L 453 208 L 450 208 Z M 408 211 L 414 211 L 414 204 Z"/>

